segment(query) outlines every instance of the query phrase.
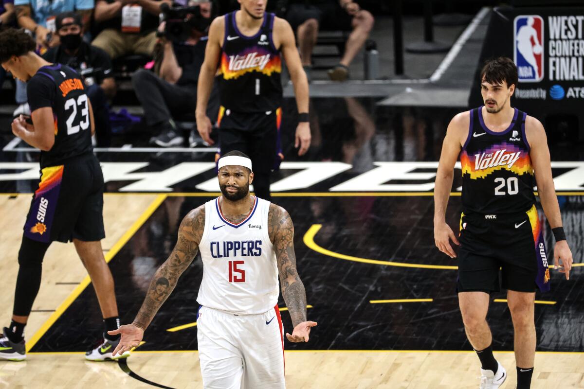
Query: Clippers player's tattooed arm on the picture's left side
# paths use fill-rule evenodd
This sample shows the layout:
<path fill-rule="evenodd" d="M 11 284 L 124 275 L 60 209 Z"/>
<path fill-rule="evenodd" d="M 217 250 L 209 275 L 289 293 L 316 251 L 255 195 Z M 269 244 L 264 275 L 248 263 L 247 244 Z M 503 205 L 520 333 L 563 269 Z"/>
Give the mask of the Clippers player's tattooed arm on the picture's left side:
<path fill-rule="evenodd" d="M 152 277 L 144 303 L 134 318 L 134 325 L 146 330 L 158 309 L 175 289 L 180 275 L 189 267 L 199 252 L 199 243 L 205 227 L 205 206 L 193 209 L 182 220 L 178 240 L 168 259 Z"/>

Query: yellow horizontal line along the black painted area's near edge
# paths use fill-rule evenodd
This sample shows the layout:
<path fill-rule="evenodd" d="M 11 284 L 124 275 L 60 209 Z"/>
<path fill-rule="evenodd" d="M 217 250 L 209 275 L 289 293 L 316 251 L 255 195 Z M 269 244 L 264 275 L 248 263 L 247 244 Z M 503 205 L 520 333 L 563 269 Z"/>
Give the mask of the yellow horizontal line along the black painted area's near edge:
<path fill-rule="evenodd" d="M 286 353 L 475 353 L 472 350 L 284 350 Z M 493 351 L 494 353 L 514 353 L 513 351 Z M 133 351 L 138 354 L 170 354 L 170 353 L 199 353 L 199 350 L 151 350 Z M 30 355 L 85 355 L 82 351 L 43 351 L 30 352 Z M 536 351 L 536 354 L 575 354 L 583 355 L 583 351 Z M 128 358 L 131 358 L 128 357 Z"/>

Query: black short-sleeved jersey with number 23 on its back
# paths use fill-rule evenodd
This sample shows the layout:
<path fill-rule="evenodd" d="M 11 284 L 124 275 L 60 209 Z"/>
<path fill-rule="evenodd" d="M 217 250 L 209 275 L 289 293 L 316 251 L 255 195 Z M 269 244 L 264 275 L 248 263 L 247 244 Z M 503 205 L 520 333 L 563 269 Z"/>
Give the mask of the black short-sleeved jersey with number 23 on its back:
<path fill-rule="evenodd" d="M 93 150 L 89 99 L 77 72 L 61 64 L 43 66 L 29 80 L 27 94 L 31 111 L 53 108 L 55 143 L 50 150 L 41 150 L 41 168 Z"/>

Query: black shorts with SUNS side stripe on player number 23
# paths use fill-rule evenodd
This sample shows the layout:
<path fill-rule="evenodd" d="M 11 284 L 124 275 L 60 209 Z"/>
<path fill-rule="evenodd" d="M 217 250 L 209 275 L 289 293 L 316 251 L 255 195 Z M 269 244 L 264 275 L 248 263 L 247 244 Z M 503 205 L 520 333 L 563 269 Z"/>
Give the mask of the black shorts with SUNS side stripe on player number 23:
<path fill-rule="evenodd" d="M 103 174 L 98 159 L 83 155 L 40 171 L 24 235 L 43 243 L 96 241 L 103 229 Z"/>

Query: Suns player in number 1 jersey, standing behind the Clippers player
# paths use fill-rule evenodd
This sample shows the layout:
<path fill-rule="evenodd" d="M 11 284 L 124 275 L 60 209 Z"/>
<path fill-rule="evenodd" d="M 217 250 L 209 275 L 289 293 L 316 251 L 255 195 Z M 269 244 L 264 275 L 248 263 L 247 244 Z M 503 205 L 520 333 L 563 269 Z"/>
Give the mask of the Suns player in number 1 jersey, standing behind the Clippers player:
<path fill-rule="evenodd" d="M 311 139 L 308 79 L 290 24 L 266 12 L 267 0 L 238 2 L 241 9 L 211 23 L 197 85 L 197 129 L 204 141 L 213 144 L 206 110 L 219 69 L 218 156 L 231 150 L 249 155 L 255 169 L 253 189 L 258 197 L 270 200 L 270 172 L 283 159 L 279 134 L 283 100 L 281 59 L 286 60 L 296 94 L 299 115 L 294 146 L 299 148 L 298 155 L 307 152 Z"/>

